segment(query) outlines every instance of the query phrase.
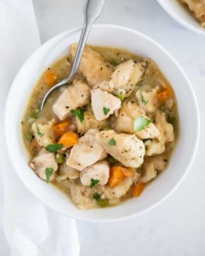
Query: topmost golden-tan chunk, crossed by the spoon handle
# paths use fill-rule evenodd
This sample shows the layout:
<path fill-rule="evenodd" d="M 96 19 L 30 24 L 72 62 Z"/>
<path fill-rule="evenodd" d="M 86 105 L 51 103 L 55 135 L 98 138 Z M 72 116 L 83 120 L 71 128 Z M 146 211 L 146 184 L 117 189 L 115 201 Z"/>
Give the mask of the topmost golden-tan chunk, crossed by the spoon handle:
<path fill-rule="evenodd" d="M 71 57 L 74 59 L 77 44 L 71 45 Z M 85 46 L 80 62 L 79 72 L 87 78 L 88 84 L 93 87 L 105 79 L 109 79 L 112 69 L 107 67 L 102 56 L 90 46 Z"/>

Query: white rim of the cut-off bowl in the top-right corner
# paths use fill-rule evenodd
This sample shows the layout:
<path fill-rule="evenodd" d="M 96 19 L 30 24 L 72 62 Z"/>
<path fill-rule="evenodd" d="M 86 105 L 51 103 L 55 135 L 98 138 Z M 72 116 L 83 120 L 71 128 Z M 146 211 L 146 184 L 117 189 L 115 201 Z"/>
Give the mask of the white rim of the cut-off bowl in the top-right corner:
<path fill-rule="evenodd" d="M 157 0 L 159 5 L 173 18 L 176 22 L 180 25 L 184 26 L 185 28 L 189 29 L 192 32 L 205 36 L 205 29 L 204 31 L 200 28 L 196 28 L 195 26 L 189 24 L 189 22 L 184 21 L 184 19 L 180 18 L 175 12 L 170 11 L 169 7 L 165 4 L 163 0 Z"/>

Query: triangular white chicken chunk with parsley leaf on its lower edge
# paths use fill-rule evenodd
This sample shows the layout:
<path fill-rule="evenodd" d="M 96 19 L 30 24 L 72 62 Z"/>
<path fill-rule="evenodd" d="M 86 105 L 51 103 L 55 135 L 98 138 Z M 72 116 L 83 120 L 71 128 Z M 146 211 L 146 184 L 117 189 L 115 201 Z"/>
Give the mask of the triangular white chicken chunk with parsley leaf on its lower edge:
<path fill-rule="evenodd" d="M 101 89 L 91 90 L 91 105 L 98 121 L 107 119 L 121 107 L 121 100 Z"/>

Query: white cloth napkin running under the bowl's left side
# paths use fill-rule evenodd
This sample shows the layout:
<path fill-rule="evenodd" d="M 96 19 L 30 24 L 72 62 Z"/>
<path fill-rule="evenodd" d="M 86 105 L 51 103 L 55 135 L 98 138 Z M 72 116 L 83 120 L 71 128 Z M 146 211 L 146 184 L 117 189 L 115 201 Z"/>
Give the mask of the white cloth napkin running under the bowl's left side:
<path fill-rule="evenodd" d="M 40 38 L 32 0 L 0 0 L 0 17 L 0 118 L 2 120 L 6 94 L 13 77 L 23 61 L 40 45 Z M 9 163 L 4 139 L 1 122 L 0 169 L 4 183 L 4 200 L 1 199 L 0 202 L 4 201 L 4 204 L 0 209 L 1 211 L 3 209 L 4 218 L 0 222 L 3 222 L 11 255 L 79 255 L 80 246 L 75 220 L 48 209 L 26 190 Z"/>

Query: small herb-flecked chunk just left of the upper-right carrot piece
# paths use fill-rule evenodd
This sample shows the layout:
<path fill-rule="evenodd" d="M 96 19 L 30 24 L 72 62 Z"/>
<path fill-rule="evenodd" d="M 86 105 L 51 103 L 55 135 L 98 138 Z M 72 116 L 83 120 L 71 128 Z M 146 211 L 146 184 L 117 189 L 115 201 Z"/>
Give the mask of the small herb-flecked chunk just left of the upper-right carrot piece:
<path fill-rule="evenodd" d="M 153 113 L 159 108 L 159 101 L 157 97 L 159 90 L 160 88 L 156 87 L 150 91 L 138 90 L 136 92 L 138 104 L 144 109 L 146 114 Z"/>

